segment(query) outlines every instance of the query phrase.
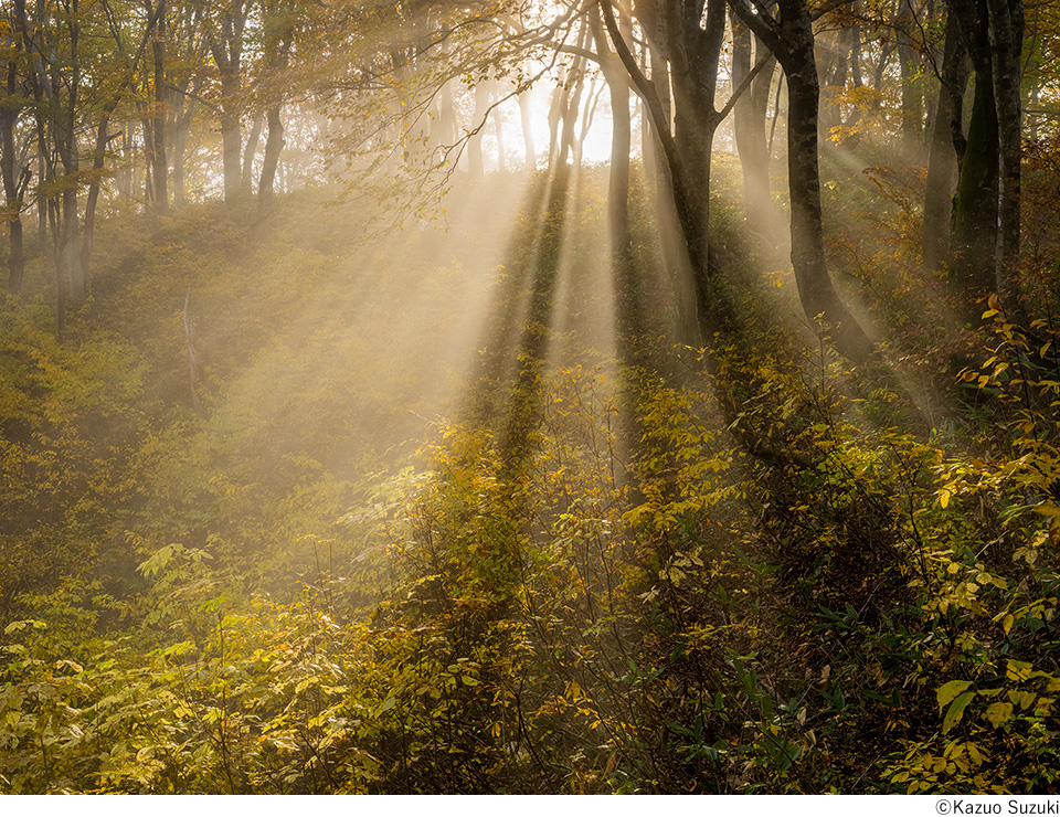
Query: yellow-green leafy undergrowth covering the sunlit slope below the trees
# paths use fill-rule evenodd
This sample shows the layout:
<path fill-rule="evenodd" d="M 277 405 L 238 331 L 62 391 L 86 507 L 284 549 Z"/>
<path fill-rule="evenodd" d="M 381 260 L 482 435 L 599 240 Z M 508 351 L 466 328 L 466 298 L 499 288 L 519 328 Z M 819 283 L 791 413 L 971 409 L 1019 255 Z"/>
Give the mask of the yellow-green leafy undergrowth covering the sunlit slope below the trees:
<path fill-rule="evenodd" d="M 436 246 L 341 263 L 288 217 L 130 243 L 76 343 L 0 315 L 0 791 L 1056 789 L 1048 319 L 985 305 L 930 434 L 765 332 L 716 350 L 739 428 L 696 350 L 664 376 L 576 327 L 444 401 L 486 357 L 458 307 L 530 263 L 424 280 Z M 469 359 L 399 365 L 413 326 Z"/>

